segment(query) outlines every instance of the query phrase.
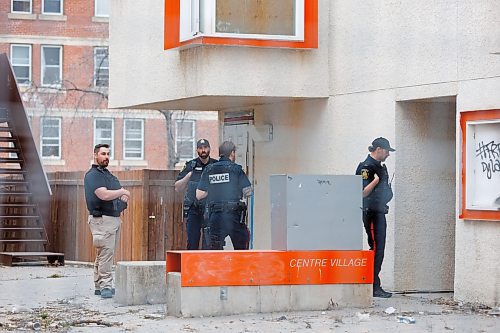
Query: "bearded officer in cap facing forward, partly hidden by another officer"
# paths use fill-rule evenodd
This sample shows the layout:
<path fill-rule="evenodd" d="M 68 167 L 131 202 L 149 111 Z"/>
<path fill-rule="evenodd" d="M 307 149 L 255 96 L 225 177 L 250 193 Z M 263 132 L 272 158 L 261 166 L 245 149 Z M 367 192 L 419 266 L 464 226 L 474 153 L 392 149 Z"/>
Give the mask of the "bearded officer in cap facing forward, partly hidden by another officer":
<path fill-rule="evenodd" d="M 175 191 L 182 192 L 187 188 L 184 195 L 183 213 L 187 218 L 187 249 L 198 250 L 200 244 L 201 229 L 205 227 L 204 211 L 205 201 L 196 200 L 196 187 L 201 178 L 201 173 L 207 165 L 217 162 L 210 158 L 210 143 L 206 139 L 200 139 L 196 142 L 196 152 L 198 157 L 186 162 L 182 171 L 177 175 L 175 182 Z M 208 247 L 208 235 L 203 239 L 203 248 Z"/>

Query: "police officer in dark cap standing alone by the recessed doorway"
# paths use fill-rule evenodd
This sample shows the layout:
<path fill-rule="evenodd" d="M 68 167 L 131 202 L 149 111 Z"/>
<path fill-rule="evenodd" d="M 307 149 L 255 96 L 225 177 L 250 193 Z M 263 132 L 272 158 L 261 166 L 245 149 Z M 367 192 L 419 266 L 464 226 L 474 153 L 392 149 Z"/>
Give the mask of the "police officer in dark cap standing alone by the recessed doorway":
<path fill-rule="evenodd" d="M 356 174 L 363 179 L 363 224 L 368 236 L 370 250 L 375 249 L 373 296 L 389 298 L 391 293 L 382 289 L 379 273 L 382 268 L 385 250 L 387 222 L 385 215 L 389 212 L 387 203 L 392 199 L 389 174 L 385 162 L 391 151 L 389 141 L 379 137 L 368 147 L 370 154 L 358 165 Z M 373 229 L 373 234 L 372 234 Z"/>

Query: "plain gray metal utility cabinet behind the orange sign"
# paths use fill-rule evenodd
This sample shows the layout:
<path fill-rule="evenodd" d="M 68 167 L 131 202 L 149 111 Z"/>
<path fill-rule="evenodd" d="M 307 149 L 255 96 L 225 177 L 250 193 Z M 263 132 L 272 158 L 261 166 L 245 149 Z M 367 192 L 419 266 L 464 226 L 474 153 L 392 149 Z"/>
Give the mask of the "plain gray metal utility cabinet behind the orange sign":
<path fill-rule="evenodd" d="M 362 250 L 361 176 L 272 175 L 273 250 Z"/>

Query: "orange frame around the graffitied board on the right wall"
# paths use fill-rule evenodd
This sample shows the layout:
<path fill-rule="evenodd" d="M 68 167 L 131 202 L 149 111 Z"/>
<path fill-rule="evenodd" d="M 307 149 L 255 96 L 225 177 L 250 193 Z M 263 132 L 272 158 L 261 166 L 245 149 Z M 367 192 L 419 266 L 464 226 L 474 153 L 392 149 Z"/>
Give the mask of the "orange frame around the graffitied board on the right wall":
<path fill-rule="evenodd" d="M 467 197 L 467 122 L 476 120 L 492 120 L 500 119 L 500 109 L 493 110 L 478 110 L 478 111 L 464 111 L 460 112 L 460 129 L 462 133 L 462 174 L 461 174 L 461 185 L 462 185 L 462 207 L 460 209 L 459 218 L 464 220 L 500 220 L 500 211 L 494 210 L 472 210 L 467 209 L 466 197 Z"/>

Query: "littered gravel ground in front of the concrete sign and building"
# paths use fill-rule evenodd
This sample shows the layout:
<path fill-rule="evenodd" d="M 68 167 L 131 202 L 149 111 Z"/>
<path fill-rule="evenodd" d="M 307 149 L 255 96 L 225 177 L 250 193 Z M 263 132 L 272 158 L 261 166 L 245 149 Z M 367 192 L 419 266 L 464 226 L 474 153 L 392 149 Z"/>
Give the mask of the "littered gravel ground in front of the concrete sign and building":
<path fill-rule="evenodd" d="M 500 332 L 499 308 L 455 302 L 452 293 L 396 294 L 368 308 L 176 318 L 163 304 L 94 296 L 88 265 L 0 266 L 0 290 L 0 332 Z"/>

